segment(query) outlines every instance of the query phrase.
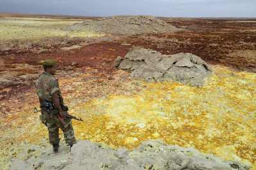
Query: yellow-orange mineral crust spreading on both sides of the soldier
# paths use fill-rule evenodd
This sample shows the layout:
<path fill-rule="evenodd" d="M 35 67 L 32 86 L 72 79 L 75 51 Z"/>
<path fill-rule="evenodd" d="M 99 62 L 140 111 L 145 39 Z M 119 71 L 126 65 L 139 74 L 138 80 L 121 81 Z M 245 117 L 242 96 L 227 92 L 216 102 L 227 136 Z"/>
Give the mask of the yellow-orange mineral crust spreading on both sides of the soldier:
<path fill-rule="evenodd" d="M 82 81 L 86 75 L 60 79 L 60 88 L 70 107 L 69 113 L 84 119 L 84 122 L 72 121 L 78 140 L 132 149 L 141 141 L 162 139 L 223 159 L 241 160 L 256 168 L 256 74 L 232 72 L 223 66 L 212 68 L 214 75 L 202 88 L 176 82 L 127 81 L 118 86 L 122 95 L 118 95 L 118 90 L 109 90 L 109 97 L 88 100 L 81 96 L 84 91 L 93 91 L 88 82 Z M 97 89 L 97 85 L 93 86 Z M 143 89 L 132 93 L 131 89 L 138 86 Z M 109 89 L 113 87 L 108 85 Z M 124 87 L 131 94 L 124 95 Z M 29 95 L 35 96 L 34 92 L 33 89 L 28 92 L 28 100 Z M 46 127 L 40 124 L 38 115 L 29 111 L 33 105 L 38 105 L 36 100 L 21 110 L 13 107 L 15 113 L 2 118 L 4 163 L 0 169 L 8 167 L 8 158 L 21 150 L 17 145 L 10 151 L 14 147 L 10 137 L 13 143 L 40 143 L 47 138 Z"/>

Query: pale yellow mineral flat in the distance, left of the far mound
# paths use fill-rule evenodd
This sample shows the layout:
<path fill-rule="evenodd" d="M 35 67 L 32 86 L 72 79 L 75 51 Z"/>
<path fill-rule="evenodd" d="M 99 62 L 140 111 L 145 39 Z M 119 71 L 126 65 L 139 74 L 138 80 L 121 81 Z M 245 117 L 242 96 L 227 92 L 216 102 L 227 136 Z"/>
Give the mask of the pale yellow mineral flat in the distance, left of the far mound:
<path fill-rule="evenodd" d="M 63 31 L 67 27 L 84 20 L 58 20 L 47 18 L 0 18 L 1 44 L 10 41 L 31 41 L 48 38 L 51 36 L 90 37 L 104 36 L 104 34 L 92 34 L 85 31 Z"/>

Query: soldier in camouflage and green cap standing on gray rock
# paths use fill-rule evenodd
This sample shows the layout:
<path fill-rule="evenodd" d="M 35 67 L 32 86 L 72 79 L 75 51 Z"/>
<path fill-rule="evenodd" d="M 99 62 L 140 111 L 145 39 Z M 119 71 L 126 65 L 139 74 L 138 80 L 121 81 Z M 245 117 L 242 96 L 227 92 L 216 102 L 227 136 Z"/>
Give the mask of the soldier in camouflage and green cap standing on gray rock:
<path fill-rule="evenodd" d="M 72 127 L 71 119 L 65 117 L 67 111 L 65 111 L 63 105 L 63 98 L 60 96 L 60 87 L 58 79 L 54 78 L 56 72 L 56 60 L 44 60 L 44 73 L 38 80 L 36 80 L 36 94 L 38 95 L 40 104 L 43 101 L 52 102 L 55 108 L 58 108 L 60 117 L 65 120 L 67 124 L 61 124 L 58 115 L 52 115 L 47 111 L 41 111 L 40 119 L 45 124 L 49 131 L 49 141 L 52 145 L 53 152 L 57 153 L 60 143 L 59 128 L 63 131 L 66 143 L 70 148 L 76 143 L 74 137 L 74 129 Z"/>

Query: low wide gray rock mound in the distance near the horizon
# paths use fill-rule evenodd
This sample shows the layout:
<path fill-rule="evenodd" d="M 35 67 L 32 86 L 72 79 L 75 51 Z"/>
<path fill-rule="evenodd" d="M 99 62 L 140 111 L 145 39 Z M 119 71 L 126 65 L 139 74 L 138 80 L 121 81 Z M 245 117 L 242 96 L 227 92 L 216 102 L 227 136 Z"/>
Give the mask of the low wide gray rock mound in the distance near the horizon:
<path fill-rule="evenodd" d="M 95 34 L 131 35 L 174 32 L 182 29 L 177 29 L 173 25 L 152 16 L 121 15 L 86 20 L 83 23 L 76 23 L 65 27 L 63 30 L 86 31 Z"/>

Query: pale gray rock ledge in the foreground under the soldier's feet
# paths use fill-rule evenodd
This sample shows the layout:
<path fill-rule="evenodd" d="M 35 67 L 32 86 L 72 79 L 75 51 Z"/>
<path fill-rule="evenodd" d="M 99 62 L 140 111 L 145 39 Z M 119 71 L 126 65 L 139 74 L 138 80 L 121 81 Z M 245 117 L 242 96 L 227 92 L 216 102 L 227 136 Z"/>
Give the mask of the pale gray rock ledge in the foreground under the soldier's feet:
<path fill-rule="evenodd" d="M 48 148 L 49 149 L 49 148 Z M 193 148 L 166 145 L 163 141 L 144 141 L 131 152 L 127 148 L 108 148 L 99 143 L 80 141 L 70 153 L 37 155 L 28 160 L 13 159 L 13 169 L 249 169 L 236 161 L 225 161 Z"/>

